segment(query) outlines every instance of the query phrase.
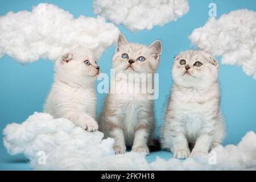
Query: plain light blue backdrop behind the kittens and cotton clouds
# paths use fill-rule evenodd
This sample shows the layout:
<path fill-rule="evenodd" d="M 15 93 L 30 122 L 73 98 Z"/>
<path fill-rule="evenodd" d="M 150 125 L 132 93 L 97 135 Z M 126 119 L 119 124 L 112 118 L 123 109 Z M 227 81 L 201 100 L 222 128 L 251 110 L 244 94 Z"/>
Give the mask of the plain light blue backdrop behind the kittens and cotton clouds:
<path fill-rule="evenodd" d="M 69 11 L 77 18 L 79 15 L 96 16 L 93 14 L 92 1 L 62 0 L 62 1 L 19 1 L 1 0 L 0 15 L 9 11 L 31 11 L 32 6 L 47 2 Z M 194 48 L 188 36 L 191 32 L 207 22 L 208 5 L 214 2 L 217 5 L 217 18 L 222 14 L 237 9 L 256 11 L 254 0 L 243 1 L 189 1 L 189 12 L 176 22 L 170 22 L 163 27 L 156 26 L 150 31 L 140 31 L 135 34 L 118 26 L 130 42 L 150 44 L 155 39 L 161 39 L 163 53 L 160 60 L 159 98 L 155 100 L 155 115 L 159 126 L 163 118 L 163 106 L 166 103 L 172 85 L 171 65 L 174 55 L 180 51 Z M 0 32 L 1 34 L 1 32 Z M 98 64 L 101 72 L 109 73 L 114 53 L 114 46 L 110 47 L 102 56 Z M 218 57 L 220 60 L 220 57 Z M 42 106 L 51 88 L 53 79 L 53 63 L 49 60 L 39 60 L 35 63 L 20 65 L 9 56 L 0 60 L 0 130 L 8 123 L 23 122 L 34 111 L 42 111 Z M 246 76 L 240 67 L 221 65 L 219 74 L 221 88 L 221 108 L 226 121 L 226 139 L 224 144 L 237 144 L 247 131 L 256 131 L 256 80 Z M 98 111 L 102 106 L 104 94 L 98 94 Z M 1 135 L 2 137 L 2 135 Z M 170 152 L 160 151 L 147 157 L 151 162 L 156 155 L 169 159 Z M 10 156 L 7 154 L 1 140 L 0 169 L 30 169 L 23 155 Z"/>

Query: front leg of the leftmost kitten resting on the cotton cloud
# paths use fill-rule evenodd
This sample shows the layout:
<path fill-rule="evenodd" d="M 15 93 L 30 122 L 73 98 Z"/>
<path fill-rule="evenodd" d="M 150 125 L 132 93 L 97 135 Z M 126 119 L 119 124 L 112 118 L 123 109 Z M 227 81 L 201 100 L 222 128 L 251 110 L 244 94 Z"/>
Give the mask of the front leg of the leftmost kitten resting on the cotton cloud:
<path fill-rule="evenodd" d="M 64 115 L 64 118 L 74 122 L 77 126 L 82 127 L 87 131 L 98 130 L 98 124 L 93 117 L 86 113 L 69 112 Z"/>

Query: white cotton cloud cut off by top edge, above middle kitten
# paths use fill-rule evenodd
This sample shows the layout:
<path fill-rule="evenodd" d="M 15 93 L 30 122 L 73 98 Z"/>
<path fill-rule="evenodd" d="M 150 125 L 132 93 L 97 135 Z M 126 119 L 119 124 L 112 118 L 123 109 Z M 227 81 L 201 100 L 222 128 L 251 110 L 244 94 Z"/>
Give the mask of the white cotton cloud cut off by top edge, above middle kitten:
<path fill-rule="evenodd" d="M 130 31 L 151 30 L 186 14 L 187 0 L 94 0 L 94 13 Z"/>

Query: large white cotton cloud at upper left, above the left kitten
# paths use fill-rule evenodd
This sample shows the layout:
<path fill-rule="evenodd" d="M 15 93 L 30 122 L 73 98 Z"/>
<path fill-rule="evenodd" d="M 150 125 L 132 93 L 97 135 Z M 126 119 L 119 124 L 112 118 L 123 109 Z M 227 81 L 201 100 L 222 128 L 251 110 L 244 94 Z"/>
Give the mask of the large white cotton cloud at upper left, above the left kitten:
<path fill-rule="evenodd" d="M 9 55 L 20 63 L 40 58 L 55 61 L 73 48 L 92 49 L 97 57 L 112 46 L 119 30 L 103 18 L 80 16 L 40 3 L 32 12 L 9 12 L 0 16 L 0 58 Z"/>

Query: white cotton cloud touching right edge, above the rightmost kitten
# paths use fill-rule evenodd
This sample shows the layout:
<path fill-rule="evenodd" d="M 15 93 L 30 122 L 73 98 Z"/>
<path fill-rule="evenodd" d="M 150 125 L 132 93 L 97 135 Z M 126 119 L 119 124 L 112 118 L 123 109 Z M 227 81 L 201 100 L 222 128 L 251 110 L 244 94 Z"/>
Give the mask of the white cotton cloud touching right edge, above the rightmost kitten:
<path fill-rule="evenodd" d="M 236 10 L 196 28 L 189 37 L 197 47 L 222 56 L 223 64 L 241 66 L 256 79 L 256 12 Z"/>

